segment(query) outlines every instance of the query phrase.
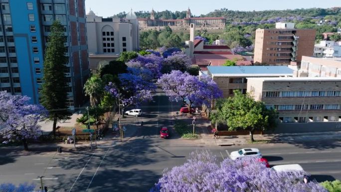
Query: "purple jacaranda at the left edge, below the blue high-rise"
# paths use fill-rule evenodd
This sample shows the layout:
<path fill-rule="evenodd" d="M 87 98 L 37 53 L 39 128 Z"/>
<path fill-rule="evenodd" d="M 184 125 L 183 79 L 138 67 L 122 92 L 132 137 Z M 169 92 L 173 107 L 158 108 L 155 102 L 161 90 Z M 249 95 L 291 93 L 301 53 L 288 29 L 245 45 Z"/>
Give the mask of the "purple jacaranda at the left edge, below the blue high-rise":
<path fill-rule="evenodd" d="M 3 143 L 19 141 L 28 150 L 28 140 L 37 139 L 40 134 L 38 121 L 46 117 L 45 108 L 30 105 L 27 96 L 10 95 L 0 92 L 0 135 Z"/>

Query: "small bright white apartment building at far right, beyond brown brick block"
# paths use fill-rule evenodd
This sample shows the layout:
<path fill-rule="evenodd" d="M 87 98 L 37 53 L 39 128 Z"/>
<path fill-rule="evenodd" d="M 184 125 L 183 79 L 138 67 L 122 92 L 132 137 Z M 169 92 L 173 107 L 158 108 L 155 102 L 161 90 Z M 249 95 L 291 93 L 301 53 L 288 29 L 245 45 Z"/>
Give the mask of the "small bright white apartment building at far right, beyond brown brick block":
<path fill-rule="evenodd" d="M 314 46 L 316 57 L 341 57 L 341 44 L 331 40 L 322 40 Z"/>

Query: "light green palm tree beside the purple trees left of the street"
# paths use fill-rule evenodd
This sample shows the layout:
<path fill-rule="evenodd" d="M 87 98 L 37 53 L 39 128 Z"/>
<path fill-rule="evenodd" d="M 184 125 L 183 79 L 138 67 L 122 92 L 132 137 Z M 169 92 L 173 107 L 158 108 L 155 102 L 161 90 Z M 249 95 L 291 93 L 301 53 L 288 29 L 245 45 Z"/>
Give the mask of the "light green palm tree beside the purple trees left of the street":
<path fill-rule="evenodd" d="M 84 91 L 86 96 L 90 96 L 90 105 L 97 106 L 104 91 L 103 81 L 99 75 L 94 75 L 85 82 Z"/>

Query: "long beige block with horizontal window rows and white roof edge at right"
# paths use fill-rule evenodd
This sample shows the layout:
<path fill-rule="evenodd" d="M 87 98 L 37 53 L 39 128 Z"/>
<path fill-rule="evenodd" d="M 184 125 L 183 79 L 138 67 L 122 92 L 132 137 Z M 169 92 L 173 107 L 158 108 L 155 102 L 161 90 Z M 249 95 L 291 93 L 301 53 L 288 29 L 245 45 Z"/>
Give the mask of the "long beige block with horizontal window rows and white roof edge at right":
<path fill-rule="evenodd" d="M 247 92 L 268 108 L 277 109 L 281 123 L 341 121 L 341 78 L 276 77 L 247 81 Z"/>

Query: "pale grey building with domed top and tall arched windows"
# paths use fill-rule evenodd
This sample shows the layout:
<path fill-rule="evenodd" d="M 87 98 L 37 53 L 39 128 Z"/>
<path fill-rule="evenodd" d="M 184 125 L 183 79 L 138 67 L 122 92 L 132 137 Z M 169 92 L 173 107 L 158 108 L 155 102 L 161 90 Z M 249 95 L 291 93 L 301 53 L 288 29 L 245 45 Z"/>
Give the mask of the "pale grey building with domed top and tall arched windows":
<path fill-rule="evenodd" d="M 86 15 L 90 68 L 116 60 L 121 52 L 139 50 L 139 22 L 133 11 L 124 20 Z"/>

